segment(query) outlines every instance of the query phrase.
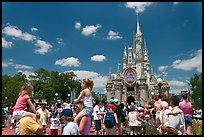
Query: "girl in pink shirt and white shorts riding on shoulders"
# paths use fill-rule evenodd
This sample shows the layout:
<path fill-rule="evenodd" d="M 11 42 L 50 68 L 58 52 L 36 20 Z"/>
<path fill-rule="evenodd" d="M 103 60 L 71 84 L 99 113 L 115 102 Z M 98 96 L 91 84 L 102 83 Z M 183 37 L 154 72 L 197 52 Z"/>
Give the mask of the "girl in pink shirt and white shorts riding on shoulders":
<path fill-rule="evenodd" d="M 24 84 L 19 92 L 19 97 L 13 108 L 13 118 L 19 120 L 24 116 L 36 117 L 36 109 L 30 98 L 33 96 L 33 86 L 31 84 Z M 27 104 L 32 109 L 32 112 L 25 111 Z"/>

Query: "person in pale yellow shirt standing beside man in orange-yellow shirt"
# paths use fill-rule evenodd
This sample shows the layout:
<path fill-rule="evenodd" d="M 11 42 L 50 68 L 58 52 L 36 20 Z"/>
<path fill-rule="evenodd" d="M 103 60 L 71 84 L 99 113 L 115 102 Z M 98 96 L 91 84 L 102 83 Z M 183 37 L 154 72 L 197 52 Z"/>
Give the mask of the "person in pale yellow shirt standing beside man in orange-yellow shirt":
<path fill-rule="evenodd" d="M 50 118 L 49 111 L 45 108 L 46 104 L 41 104 L 41 108 L 37 110 L 40 114 L 40 122 L 43 125 L 43 132 L 46 134 L 47 119 Z"/>

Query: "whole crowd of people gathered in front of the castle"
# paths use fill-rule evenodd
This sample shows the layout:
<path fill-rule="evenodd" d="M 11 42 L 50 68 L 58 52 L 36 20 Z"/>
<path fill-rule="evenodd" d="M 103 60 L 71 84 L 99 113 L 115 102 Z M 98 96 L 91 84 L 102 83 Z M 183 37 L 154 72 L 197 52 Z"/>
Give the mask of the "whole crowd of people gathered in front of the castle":
<path fill-rule="evenodd" d="M 46 135 L 46 128 L 50 129 L 49 135 L 58 135 L 60 126 L 61 135 L 90 135 L 91 128 L 96 135 L 123 135 L 127 131 L 144 135 L 147 124 L 156 126 L 161 135 L 192 135 L 194 112 L 187 94 L 182 94 L 182 100 L 172 96 L 169 102 L 159 95 L 153 105 L 141 105 L 139 101 L 124 104 L 116 98 L 101 102 L 92 97 L 93 85 L 92 80 L 83 79 L 82 91 L 73 103 L 39 105 L 31 101 L 33 86 L 25 84 L 15 105 L 2 112 L 8 112 L 6 120 L 10 119 L 10 128 L 15 128 L 17 135 Z"/>

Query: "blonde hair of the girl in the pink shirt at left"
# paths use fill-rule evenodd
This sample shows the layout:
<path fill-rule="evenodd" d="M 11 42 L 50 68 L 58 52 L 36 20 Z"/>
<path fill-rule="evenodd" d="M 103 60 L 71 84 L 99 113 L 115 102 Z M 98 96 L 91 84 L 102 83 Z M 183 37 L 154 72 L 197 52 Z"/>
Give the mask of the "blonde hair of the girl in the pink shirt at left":
<path fill-rule="evenodd" d="M 19 92 L 19 96 L 24 96 L 25 94 L 27 94 L 30 97 L 32 97 L 33 96 L 33 90 L 34 90 L 33 86 L 29 83 L 26 83 L 21 87 L 21 90 Z"/>

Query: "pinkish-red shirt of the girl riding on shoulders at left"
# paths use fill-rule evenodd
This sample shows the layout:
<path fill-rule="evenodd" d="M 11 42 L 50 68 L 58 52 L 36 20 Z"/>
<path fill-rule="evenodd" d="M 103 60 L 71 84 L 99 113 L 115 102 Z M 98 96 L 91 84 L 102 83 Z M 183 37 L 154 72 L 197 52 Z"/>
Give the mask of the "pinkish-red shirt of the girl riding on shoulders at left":
<path fill-rule="evenodd" d="M 19 96 L 16 101 L 16 105 L 14 106 L 14 111 L 26 110 L 28 99 L 30 99 L 30 96 L 28 95 Z"/>

